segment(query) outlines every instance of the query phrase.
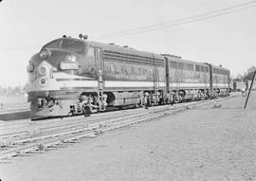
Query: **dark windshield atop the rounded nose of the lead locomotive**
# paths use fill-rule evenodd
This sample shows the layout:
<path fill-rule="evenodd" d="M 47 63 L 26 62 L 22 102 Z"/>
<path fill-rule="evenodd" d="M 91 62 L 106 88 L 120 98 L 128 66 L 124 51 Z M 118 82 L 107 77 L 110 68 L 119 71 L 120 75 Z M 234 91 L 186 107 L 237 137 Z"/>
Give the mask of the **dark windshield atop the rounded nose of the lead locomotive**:
<path fill-rule="evenodd" d="M 82 52 L 84 50 L 84 43 L 77 40 L 70 39 L 60 39 L 50 42 L 44 46 L 45 48 L 63 48 L 68 50 L 73 50 L 77 52 Z"/>

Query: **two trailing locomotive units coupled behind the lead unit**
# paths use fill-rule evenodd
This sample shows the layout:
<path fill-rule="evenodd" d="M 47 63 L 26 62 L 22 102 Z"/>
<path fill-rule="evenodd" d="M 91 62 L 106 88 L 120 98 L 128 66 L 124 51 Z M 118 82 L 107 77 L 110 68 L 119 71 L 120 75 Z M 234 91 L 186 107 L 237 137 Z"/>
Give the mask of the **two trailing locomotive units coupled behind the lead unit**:
<path fill-rule="evenodd" d="M 167 91 L 172 92 L 175 102 L 229 95 L 228 69 L 210 63 L 185 61 L 168 54 L 162 55 L 167 61 Z"/>

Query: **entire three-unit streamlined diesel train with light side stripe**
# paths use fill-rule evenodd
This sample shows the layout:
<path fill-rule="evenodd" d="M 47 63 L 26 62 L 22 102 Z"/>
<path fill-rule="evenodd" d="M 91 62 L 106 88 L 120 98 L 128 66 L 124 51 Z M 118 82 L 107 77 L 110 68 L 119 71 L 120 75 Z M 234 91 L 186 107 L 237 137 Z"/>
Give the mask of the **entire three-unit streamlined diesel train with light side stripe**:
<path fill-rule="evenodd" d="M 179 57 L 63 37 L 27 66 L 31 118 L 227 94 L 229 70 Z"/>

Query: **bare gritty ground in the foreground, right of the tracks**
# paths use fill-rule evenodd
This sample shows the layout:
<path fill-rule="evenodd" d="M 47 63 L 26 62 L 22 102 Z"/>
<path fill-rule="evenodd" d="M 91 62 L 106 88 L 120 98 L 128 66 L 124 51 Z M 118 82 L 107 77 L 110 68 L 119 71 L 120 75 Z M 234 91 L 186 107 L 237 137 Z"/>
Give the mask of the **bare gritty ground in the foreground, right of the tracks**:
<path fill-rule="evenodd" d="M 0 164 L 15 180 L 256 180 L 256 93 Z M 210 100 L 209 100 L 210 101 Z"/>

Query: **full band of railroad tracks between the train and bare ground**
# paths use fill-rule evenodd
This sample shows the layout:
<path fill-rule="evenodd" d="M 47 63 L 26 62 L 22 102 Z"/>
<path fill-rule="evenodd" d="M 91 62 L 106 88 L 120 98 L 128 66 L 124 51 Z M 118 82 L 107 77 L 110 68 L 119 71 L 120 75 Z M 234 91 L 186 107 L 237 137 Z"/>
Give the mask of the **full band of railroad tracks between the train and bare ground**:
<path fill-rule="evenodd" d="M 6 135 L 0 135 L 0 138 L 2 137 L 0 139 L 0 160 L 20 154 L 42 152 L 56 145 L 70 143 L 84 137 L 95 137 L 109 130 L 159 118 L 208 103 L 210 103 L 210 100 L 185 102 L 175 104 L 174 106 L 151 107 L 148 110 L 138 109 L 131 112 L 126 111 L 115 114 L 115 116 L 105 116 L 102 114 L 100 118 L 84 119 L 80 117 L 67 119 L 63 122 L 61 120 L 55 120 L 55 122 L 49 125 L 46 122 L 40 122 L 32 132 L 25 129 L 19 133 L 12 132 Z"/>

